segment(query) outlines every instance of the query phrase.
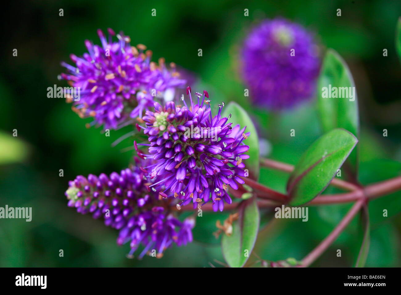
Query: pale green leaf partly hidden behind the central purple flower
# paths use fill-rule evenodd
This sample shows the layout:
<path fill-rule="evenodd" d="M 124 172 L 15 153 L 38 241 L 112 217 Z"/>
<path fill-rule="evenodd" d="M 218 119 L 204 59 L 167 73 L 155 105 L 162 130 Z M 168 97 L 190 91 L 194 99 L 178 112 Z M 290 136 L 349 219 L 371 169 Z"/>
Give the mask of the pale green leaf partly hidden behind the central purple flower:
<path fill-rule="evenodd" d="M 259 138 L 257 136 L 256 128 L 247 112 L 239 106 L 236 102 L 230 102 L 224 107 L 222 116 L 228 117 L 231 114 L 228 122 L 233 123 L 233 127 L 237 124 L 245 129 L 245 133 L 250 132 L 247 139 L 243 140 L 243 143 L 249 146 L 247 155 L 249 159 L 245 160 L 246 169 L 249 169 L 249 176 L 255 180 L 259 179 Z"/>

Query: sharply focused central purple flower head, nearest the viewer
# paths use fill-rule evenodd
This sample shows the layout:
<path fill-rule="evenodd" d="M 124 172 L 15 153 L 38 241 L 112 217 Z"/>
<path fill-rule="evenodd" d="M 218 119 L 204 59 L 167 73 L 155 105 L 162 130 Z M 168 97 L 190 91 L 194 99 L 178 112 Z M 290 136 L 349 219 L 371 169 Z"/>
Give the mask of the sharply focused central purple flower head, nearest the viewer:
<path fill-rule="evenodd" d="M 143 128 L 148 135 L 150 144 L 148 153 L 142 153 L 134 142 L 138 155 L 151 157 L 155 163 L 145 167 L 150 171 L 150 177 L 156 181 L 150 187 L 160 190 L 165 197 L 178 197 L 182 202 L 177 206 L 186 205 L 192 201 L 194 208 L 197 202 L 213 202 L 214 211 L 223 211 L 224 203 L 231 203 L 227 193 L 228 186 L 238 188 L 237 183 L 244 183 L 241 176 L 245 175 L 243 159 L 249 156 L 244 153 L 249 146 L 243 143 L 249 133 L 239 125 L 221 116 L 224 103 L 219 105 L 219 112 L 213 116 L 209 106 L 209 94 L 204 91 L 196 94 L 198 102 L 192 101 L 190 87 L 187 88 L 190 106 L 184 98 L 184 106 L 175 106 L 167 102 L 161 106 L 154 104 L 154 112 L 147 111 L 142 117 L 146 123 Z"/>

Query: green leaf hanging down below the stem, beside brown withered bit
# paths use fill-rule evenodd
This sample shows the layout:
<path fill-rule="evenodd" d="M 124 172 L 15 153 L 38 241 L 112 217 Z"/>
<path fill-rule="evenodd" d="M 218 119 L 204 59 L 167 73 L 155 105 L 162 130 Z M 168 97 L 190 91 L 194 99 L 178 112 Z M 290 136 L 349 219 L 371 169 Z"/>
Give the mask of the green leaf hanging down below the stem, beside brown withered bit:
<path fill-rule="evenodd" d="M 243 267 L 255 246 L 259 230 L 259 209 L 256 199 L 248 199 L 239 208 L 239 217 L 233 222 L 231 236 L 223 234 L 221 249 L 230 267 Z"/>

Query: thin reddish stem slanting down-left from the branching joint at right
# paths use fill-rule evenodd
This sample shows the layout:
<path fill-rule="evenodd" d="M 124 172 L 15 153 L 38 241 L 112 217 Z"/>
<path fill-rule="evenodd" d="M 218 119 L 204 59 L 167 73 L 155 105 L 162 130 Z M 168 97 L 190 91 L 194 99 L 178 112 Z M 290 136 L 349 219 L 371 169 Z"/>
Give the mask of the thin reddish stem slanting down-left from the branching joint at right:
<path fill-rule="evenodd" d="M 346 226 L 351 222 L 354 216 L 359 212 L 365 202 L 364 198 L 359 199 L 354 203 L 351 209 L 348 211 L 346 216 L 340 221 L 340 223 L 334 228 L 334 230 L 322 241 L 316 248 L 312 250 L 305 258 L 302 260 L 301 267 L 308 267 L 312 262 L 314 262 L 322 253 L 336 240 L 338 235 L 346 228 Z"/>

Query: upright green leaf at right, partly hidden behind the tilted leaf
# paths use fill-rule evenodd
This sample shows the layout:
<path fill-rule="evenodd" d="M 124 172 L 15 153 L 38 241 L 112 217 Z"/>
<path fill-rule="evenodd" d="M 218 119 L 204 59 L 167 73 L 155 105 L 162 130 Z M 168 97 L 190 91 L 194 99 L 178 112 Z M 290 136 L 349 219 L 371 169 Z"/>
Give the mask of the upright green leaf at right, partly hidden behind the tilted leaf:
<path fill-rule="evenodd" d="M 329 90 L 337 87 L 355 87 L 354 80 L 344 59 L 334 49 L 328 49 L 324 57 L 322 69 L 318 78 L 318 111 L 323 132 L 328 132 L 334 128 L 344 128 L 348 130 L 356 138 L 359 138 L 359 115 L 358 115 L 358 99 L 355 88 L 352 89 L 354 97 L 350 101 L 350 93 L 348 98 L 323 98 L 324 87 Z M 345 90 L 344 90 L 345 91 Z M 340 91 L 338 91 L 339 96 Z M 346 94 L 346 93 L 344 93 Z M 341 91 L 341 96 L 343 96 Z M 352 151 L 344 164 L 344 175 L 347 179 L 355 179 L 358 171 L 358 149 Z"/>

